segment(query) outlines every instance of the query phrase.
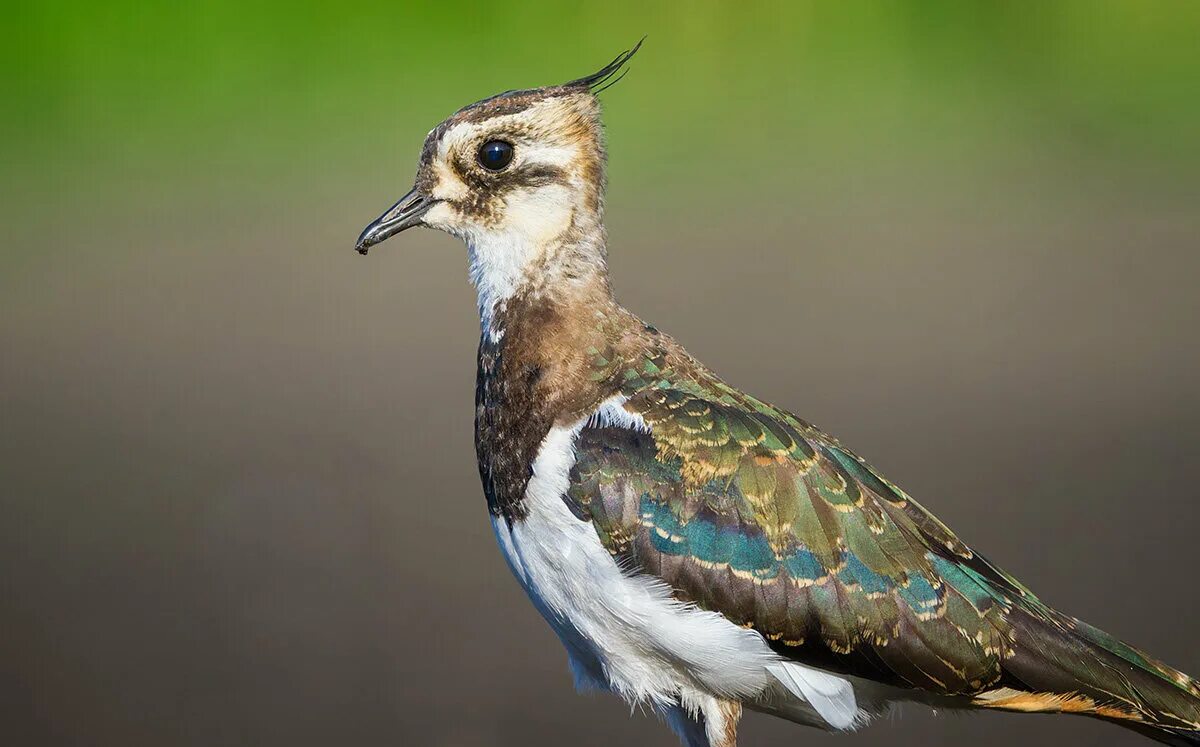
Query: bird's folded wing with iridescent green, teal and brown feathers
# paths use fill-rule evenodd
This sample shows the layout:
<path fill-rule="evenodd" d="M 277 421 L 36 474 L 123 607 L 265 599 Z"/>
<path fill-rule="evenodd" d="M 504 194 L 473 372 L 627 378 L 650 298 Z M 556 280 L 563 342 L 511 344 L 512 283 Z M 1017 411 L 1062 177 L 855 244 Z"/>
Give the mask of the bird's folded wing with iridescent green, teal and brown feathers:
<path fill-rule="evenodd" d="M 781 655 L 979 706 L 1194 730 L 1200 687 L 1043 604 L 863 459 L 690 359 L 617 370 L 568 500 L 623 563 Z"/>

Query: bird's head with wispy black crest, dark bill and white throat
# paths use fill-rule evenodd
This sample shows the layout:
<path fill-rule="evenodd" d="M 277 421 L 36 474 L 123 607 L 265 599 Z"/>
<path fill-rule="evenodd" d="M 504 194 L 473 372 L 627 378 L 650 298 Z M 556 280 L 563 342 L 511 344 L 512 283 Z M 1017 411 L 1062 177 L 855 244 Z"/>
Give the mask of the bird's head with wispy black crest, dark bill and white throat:
<path fill-rule="evenodd" d="M 485 291 L 511 292 L 534 268 L 602 269 L 605 147 L 596 94 L 619 79 L 638 47 L 589 76 L 508 91 L 452 114 L 425 138 L 412 191 L 362 231 L 355 249 L 366 255 L 415 226 L 458 237 L 470 250 L 481 310 Z"/>

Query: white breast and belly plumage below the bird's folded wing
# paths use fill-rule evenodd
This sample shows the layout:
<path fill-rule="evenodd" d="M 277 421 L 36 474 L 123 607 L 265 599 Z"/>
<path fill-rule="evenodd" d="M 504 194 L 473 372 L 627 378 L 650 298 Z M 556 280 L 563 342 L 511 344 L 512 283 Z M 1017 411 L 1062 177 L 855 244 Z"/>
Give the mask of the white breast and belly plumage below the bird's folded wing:
<path fill-rule="evenodd" d="M 622 402 L 610 400 L 594 417 L 644 429 Z M 526 489 L 524 519 L 511 527 L 493 519 L 512 573 L 566 647 L 577 686 L 660 707 L 701 698 L 775 699 L 781 686 L 832 727 L 859 722 L 864 715 L 847 680 L 787 662 L 758 633 L 683 604 L 665 584 L 618 567 L 563 498 L 584 423 L 546 436 Z"/>

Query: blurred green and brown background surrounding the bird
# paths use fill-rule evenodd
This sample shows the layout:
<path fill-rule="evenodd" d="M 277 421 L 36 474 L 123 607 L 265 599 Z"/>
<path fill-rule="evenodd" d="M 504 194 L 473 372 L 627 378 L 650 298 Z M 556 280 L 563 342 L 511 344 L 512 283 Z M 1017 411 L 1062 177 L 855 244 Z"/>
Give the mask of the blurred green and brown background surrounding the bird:
<path fill-rule="evenodd" d="M 475 476 L 425 132 L 584 74 L 618 295 L 1066 611 L 1200 674 L 1200 4 L 16 2 L 2 723 L 37 745 L 673 743 L 570 692 Z M 751 717 L 748 743 L 833 737 Z M 932 717 L 847 743 L 1140 743 Z M 830 741 L 832 743 L 832 741 Z"/>

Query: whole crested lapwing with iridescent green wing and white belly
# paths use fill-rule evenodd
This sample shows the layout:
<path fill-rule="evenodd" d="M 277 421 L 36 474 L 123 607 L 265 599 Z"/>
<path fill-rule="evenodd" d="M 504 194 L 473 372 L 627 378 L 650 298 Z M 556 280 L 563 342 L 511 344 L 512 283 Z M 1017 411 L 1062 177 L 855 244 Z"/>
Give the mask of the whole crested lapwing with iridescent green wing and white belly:
<path fill-rule="evenodd" d="M 848 731 L 896 704 L 1076 713 L 1200 745 L 1200 683 L 1042 602 L 835 437 L 613 295 L 599 71 L 467 106 L 355 249 L 467 245 L 475 450 L 509 568 L 581 691 L 734 747 L 748 710 Z"/>

